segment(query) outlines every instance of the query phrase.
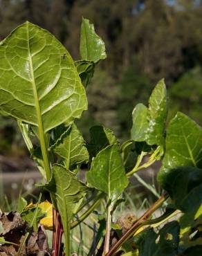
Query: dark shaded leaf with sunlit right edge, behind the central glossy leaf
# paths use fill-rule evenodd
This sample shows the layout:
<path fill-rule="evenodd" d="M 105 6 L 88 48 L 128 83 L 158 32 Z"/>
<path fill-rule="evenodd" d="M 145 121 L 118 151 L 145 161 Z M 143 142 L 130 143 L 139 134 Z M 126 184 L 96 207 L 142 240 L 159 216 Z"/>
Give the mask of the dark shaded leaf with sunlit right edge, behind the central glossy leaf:
<path fill-rule="evenodd" d="M 101 149 L 109 145 L 118 144 L 116 136 L 109 128 L 101 125 L 95 125 L 90 129 L 91 141 L 87 145 L 90 156 L 96 156 Z"/>

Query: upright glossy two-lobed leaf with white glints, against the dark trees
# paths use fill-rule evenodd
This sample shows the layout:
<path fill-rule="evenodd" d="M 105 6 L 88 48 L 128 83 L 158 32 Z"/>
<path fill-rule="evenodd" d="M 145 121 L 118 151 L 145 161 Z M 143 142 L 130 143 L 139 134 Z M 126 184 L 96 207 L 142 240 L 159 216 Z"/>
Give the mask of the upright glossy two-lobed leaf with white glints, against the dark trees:
<path fill-rule="evenodd" d="M 149 98 L 149 107 L 138 104 L 133 111 L 131 139 L 148 145 L 164 145 L 167 118 L 167 93 L 164 80 L 156 84 Z"/>

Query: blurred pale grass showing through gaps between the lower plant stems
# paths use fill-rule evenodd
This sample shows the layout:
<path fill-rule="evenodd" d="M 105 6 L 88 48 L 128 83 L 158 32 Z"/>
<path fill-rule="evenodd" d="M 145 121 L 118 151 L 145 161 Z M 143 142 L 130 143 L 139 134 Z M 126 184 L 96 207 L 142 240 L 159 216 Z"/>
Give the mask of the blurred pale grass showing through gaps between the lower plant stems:
<path fill-rule="evenodd" d="M 134 174 L 134 178 L 137 181 L 136 185 L 130 185 L 127 190 L 122 194 L 123 201 L 118 205 L 113 212 L 113 222 L 125 214 L 131 213 L 136 217 L 140 217 L 145 210 L 154 202 L 154 200 L 160 197 L 160 190 L 154 185 L 154 179 L 152 184 L 146 183 L 138 174 Z M 13 194 L 8 196 L 3 193 L 3 181 L 0 173 L 0 203 L 2 211 L 16 210 L 17 200 Z M 34 188 L 29 191 L 23 192 L 24 181 L 21 183 L 19 190 L 19 196 L 24 196 L 32 201 L 37 201 L 37 197 L 34 194 Z M 105 214 L 106 203 L 102 201 L 99 208 L 95 210 L 83 223 L 74 228 L 71 232 L 71 244 L 72 252 L 77 255 L 90 256 L 95 255 L 96 244 L 98 248 L 102 244 L 104 238 L 104 230 L 100 229 L 100 223 L 103 223 Z M 86 205 L 83 210 L 87 210 L 89 205 Z M 51 247 L 52 232 L 48 231 L 48 243 Z M 97 237 L 97 239 L 95 239 Z M 95 242 L 95 240 L 97 240 Z M 94 244 L 93 244 L 94 241 Z M 91 254 L 89 254 L 91 251 Z"/>

